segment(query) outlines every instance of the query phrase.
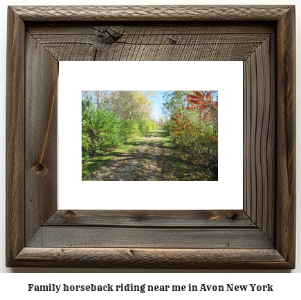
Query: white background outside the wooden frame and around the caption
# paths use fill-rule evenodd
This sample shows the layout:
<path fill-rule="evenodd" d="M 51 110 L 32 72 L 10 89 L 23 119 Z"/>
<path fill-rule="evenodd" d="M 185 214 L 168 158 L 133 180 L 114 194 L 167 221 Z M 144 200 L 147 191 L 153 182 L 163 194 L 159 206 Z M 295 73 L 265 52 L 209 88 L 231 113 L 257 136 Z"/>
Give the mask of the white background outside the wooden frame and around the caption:
<path fill-rule="evenodd" d="M 275 270 L 275 271 L 266 271 L 266 270 L 242 270 L 242 271 L 231 271 L 231 270 L 220 270 L 218 272 L 227 272 L 225 274 L 199 274 L 202 272 L 216 272 L 214 270 L 187 270 L 183 271 L 184 273 L 188 274 L 169 274 L 170 272 L 182 272 L 181 270 L 155 270 L 156 272 L 161 272 L 162 274 L 147 274 L 149 270 L 85 270 L 85 269 L 60 269 L 60 268 L 6 268 L 5 267 L 5 93 L 6 93 L 6 10 L 8 5 L 42 5 L 42 4 L 48 4 L 48 5 L 87 5 L 87 4 L 236 4 L 241 5 L 242 3 L 245 4 L 294 4 L 296 6 L 296 17 L 297 17 L 297 99 L 298 99 L 298 92 L 300 92 L 301 87 L 301 76 L 300 76 L 300 63 L 301 63 L 301 56 L 299 54 L 300 49 L 300 29 L 301 29 L 301 4 L 300 1 L 294 0 L 294 1 L 281 1 L 281 0 L 273 0 L 273 1 L 256 1 L 256 0 L 249 0 L 249 1 L 241 1 L 241 0 L 207 0 L 207 1 L 195 1 L 195 0 L 156 0 L 156 1 L 134 1 L 134 0 L 113 0 L 113 1 L 100 1 L 100 0 L 86 0 L 86 1 L 79 1 L 79 0 L 48 0 L 48 1 L 38 1 L 38 0 L 26 0 L 26 1 L 12 1 L 12 0 L 2 0 L 0 3 L 0 272 L 3 273 L 24 273 L 24 272 L 30 272 L 30 273 L 45 273 L 45 274 L 0 274 L 0 289 L 1 289 L 1 295 L 3 294 L 4 297 L 28 297 L 33 299 L 41 299 L 43 296 L 44 299 L 53 299 L 53 294 L 35 294 L 35 296 L 28 294 L 25 292 L 26 284 L 31 282 L 37 282 L 38 284 L 48 284 L 53 283 L 53 280 L 55 279 L 55 283 L 62 284 L 64 281 L 73 281 L 75 284 L 79 283 L 81 280 L 86 281 L 90 280 L 93 281 L 93 283 L 101 282 L 105 283 L 106 281 L 112 281 L 116 284 L 120 283 L 120 281 L 131 281 L 136 282 L 140 279 L 145 279 L 145 281 L 148 281 L 149 284 L 152 284 L 153 282 L 161 282 L 164 283 L 165 280 L 170 279 L 177 279 L 177 282 L 181 279 L 181 281 L 185 283 L 203 283 L 204 281 L 211 281 L 215 282 L 216 284 L 219 283 L 228 283 L 228 281 L 232 281 L 233 283 L 242 284 L 241 282 L 248 282 L 248 283 L 259 283 L 262 282 L 264 284 L 268 283 L 268 281 L 273 284 L 277 284 L 279 289 L 277 290 L 277 294 L 273 293 L 270 294 L 273 298 L 276 298 L 279 296 L 279 298 L 286 298 L 286 297 L 295 297 L 295 294 L 298 294 L 300 292 L 298 288 L 300 288 L 300 274 L 284 274 L 288 272 L 292 273 L 300 273 L 301 270 L 301 259 L 300 259 L 300 250 L 301 250 L 301 236 L 300 236 L 300 215 L 301 215 L 301 209 L 300 209 L 300 182 L 298 182 L 298 179 L 300 178 L 300 171 L 301 171 L 301 165 L 300 165 L 300 159 L 297 159 L 298 163 L 298 174 L 297 174 L 297 268 L 295 270 Z M 300 103 L 300 100 L 298 100 L 298 104 Z M 300 117 L 300 109 L 298 105 L 298 115 Z M 301 120 L 298 120 L 298 126 L 300 126 Z M 297 141 L 301 140 L 300 131 L 298 131 L 298 137 Z M 298 142 L 298 152 L 300 153 L 300 142 Z M 300 154 L 299 154 L 300 156 Z M 51 272 L 57 272 L 58 274 L 48 274 Z M 85 274 L 84 276 L 78 276 L 77 274 L 60 274 L 62 272 L 88 272 L 91 274 Z M 92 274 L 92 273 L 99 273 L 99 272 L 143 272 L 144 274 Z M 154 271 L 150 271 L 154 272 Z M 167 274 L 164 274 L 168 272 Z M 237 274 L 239 272 L 248 272 L 248 274 Z M 254 274 L 256 273 L 265 273 L 265 272 L 275 272 L 277 274 Z M 297 276 L 298 275 L 298 276 Z M 30 282 L 28 282 L 30 281 Z M 271 282 L 272 281 L 272 282 Z M 7 293 L 7 294 L 5 294 Z M 9 296 L 8 296 L 9 295 Z M 62 294 L 64 299 L 66 299 L 66 296 Z M 237 297 L 241 297 L 244 294 L 235 294 Z M 245 296 L 248 296 L 247 299 L 254 299 L 254 297 L 259 297 L 258 299 L 266 299 L 268 294 L 263 293 L 262 296 L 259 296 L 260 294 L 245 294 Z M 77 297 L 85 296 L 85 294 L 77 294 Z M 159 296 L 164 296 L 160 294 Z M 187 296 L 187 294 L 185 294 Z M 200 299 L 201 297 L 212 297 L 212 294 L 197 294 L 197 296 L 194 296 L 196 299 Z M 101 295 L 97 294 L 94 296 L 95 299 L 100 299 Z M 96 298 L 97 297 L 97 298 Z M 116 295 L 115 295 L 116 297 Z M 125 295 L 123 295 L 125 297 Z M 127 297 L 133 297 L 133 294 L 129 294 Z M 141 297 L 141 295 L 138 295 L 138 297 Z M 154 295 L 150 295 L 148 297 L 154 298 Z M 180 296 L 183 298 L 183 295 L 180 294 Z M 190 297 L 192 297 L 190 295 Z M 221 294 L 216 294 L 214 298 L 221 297 Z M 222 297 L 231 297 L 233 299 L 233 294 L 223 294 Z"/>

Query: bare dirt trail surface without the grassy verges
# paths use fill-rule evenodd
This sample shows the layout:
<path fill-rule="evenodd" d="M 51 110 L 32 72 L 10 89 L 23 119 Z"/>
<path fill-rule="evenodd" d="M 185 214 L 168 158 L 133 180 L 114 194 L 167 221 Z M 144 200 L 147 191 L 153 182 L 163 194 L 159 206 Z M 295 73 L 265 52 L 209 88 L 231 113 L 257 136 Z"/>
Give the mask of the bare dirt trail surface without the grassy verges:
<path fill-rule="evenodd" d="M 107 165 L 95 171 L 90 181 L 154 181 L 167 180 L 164 174 L 172 175 L 170 154 L 163 147 L 159 129 L 140 140 L 138 150 L 129 149 Z M 170 179 L 168 179 L 170 180 Z M 176 179 L 174 179 L 176 180 Z"/>

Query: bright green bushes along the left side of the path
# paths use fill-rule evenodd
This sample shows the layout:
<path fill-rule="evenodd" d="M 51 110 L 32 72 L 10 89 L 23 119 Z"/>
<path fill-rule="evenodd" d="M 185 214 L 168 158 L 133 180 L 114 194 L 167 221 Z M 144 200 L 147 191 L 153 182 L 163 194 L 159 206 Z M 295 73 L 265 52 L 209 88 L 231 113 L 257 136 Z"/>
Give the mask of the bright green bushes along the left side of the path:
<path fill-rule="evenodd" d="M 118 107 L 126 104 L 129 110 L 128 115 L 120 115 L 104 102 L 98 105 L 93 103 L 93 93 L 82 92 L 82 161 L 95 156 L 103 155 L 108 149 L 119 147 L 129 139 L 138 135 L 145 135 L 149 130 L 156 127 L 156 123 L 151 120 L 140 119 L 138 113 L 136 118 L 132 118 L 136 112 L 134 108 L 139 105 L 149 105 L 147 93 L 132 91 L 120 91 L 112 95 L 123 97 L 118 101 Z M 121 93 L 122 92 L 122 93 Z M 152 93 L 149 93 L 151 95 Z M 110 94 L 111 95 L 111 94 Z M 114 100 L 114 101 L 115 101 Z M 117 107 L 117 106 L 116 106 Z"/>

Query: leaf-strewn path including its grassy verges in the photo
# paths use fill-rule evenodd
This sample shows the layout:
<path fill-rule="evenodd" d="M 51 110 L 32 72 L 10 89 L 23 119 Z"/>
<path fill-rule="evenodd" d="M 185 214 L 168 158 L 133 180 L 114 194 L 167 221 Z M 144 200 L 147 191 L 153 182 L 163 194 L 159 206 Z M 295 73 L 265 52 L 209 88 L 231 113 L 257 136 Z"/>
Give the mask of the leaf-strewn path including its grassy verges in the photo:
<path fill-rule="evenodd" d="M 82 165 L 82 180 L 89 181 L 191 181 L 206 180 L 183 153 L 172 147 L 158 127 L 145 137 Z"/>

